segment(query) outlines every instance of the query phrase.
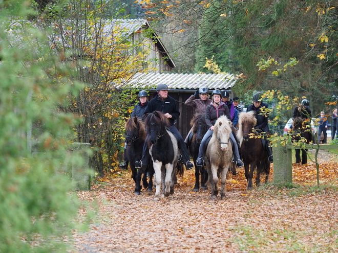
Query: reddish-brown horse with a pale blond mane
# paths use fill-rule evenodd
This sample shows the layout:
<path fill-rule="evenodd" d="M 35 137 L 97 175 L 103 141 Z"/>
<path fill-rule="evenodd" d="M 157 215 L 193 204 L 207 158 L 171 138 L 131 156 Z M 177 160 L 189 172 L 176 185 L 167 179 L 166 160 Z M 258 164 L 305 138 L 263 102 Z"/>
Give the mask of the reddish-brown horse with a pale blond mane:
<path fill-rule="evenodd" d="M 269 180 L 270 163 L 268 153 L 263 146 L 260 133 L 255 130 L 257 119 L 254 111 L 239 114 L 237 139 L 240 142 L 240 153 L 244 163 L 247 190 L 252 189 L 252 177 L 257 167 L 256 186 L 261 185 L 261 174 L 265 173 L 265 183 Z"/>

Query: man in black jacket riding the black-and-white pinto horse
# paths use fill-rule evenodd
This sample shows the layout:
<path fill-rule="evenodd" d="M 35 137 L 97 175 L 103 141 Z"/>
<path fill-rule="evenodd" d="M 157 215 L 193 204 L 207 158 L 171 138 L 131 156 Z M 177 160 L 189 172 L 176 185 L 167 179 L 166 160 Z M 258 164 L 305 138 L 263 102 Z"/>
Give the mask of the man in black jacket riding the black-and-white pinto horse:
<path fill-rule="evenodd" d="M 164 116 L 169 120 L 170 126 L 168 128 L 178 137 L 178 147 L 181 150 L 182 161 L 185 165 L 186 170 L 190 170 L 194 168 L 194 165 L 192 162 L 190 162 L 188 150 L 186 149 L 183 138 L 180 132 L 175 127 L 175 122 L 180 116 L 180 111 L 178 109 L 176 100 L 168 96 L 168 89 L 168 85 L 166 84 L 162 83 L 157 85 L 157 96 L 149 102 L 147 108 L 144 111 L 144 114 L 148 114 L 154 111 L 161 111 Z M 146 168 L 149 159 L 149 147 L 147 144 L 147 140 L 148 136 L 146 137 L 146 140 L 144 142 L 142 159 L 135 162 L 136 168 Z M 165 150 L 163 150 L 163 152 L 165 152 Z"/>

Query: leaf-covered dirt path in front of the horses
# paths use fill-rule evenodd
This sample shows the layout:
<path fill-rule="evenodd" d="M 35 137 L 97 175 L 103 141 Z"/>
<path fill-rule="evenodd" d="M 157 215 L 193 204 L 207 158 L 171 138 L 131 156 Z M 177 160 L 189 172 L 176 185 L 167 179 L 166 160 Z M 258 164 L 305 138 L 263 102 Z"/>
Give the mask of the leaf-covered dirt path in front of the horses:
<path fill-rule="evenodd" d="M 320 159 L 321 183 L 337 185 L 336 157 L 325 151 Z M 157 202 L 153 193 L 133 193 L 129 172 L 105 177 L 92 191 L 79 192 L 81 199 L 97 199 L 99 221 L 87 233 L 74 234 L 70 252 L 338 251 L 334 187 L 246 191 L 243 170 L 227 180 L 225 200 L 210 199 L 208 190 L 192 192 L 193 171 L 179 178 L 174 195 Z M 314 165 L 294 165 L 293 178 L 315 184 Z"/>

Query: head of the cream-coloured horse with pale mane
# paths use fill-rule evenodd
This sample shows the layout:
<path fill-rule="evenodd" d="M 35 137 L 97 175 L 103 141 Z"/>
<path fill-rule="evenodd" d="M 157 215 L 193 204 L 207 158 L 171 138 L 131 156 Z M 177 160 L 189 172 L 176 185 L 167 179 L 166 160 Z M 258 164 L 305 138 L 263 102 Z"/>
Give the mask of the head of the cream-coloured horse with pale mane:
<path fill-rule="evenodd" d="M 228 148 L 232 124 L 233 123 L 231 123 L 231 121 L 226 116 L 221 116 L 215 122 L 214 135 L 219 141 L 222 151 L 225 151 Z"/>

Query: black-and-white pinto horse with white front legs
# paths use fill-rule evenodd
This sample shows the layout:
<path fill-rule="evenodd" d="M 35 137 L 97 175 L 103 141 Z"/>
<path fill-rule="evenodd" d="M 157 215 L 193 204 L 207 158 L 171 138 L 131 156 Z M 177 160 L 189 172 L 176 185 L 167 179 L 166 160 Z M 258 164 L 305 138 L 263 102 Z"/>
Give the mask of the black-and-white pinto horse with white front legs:
<path fill-rule="evenodd" d="M 177 182 L 176 172 L 183 175 L 183 166 L 179 163 L 180 151 L 174 133 L 167 129 L 168 119 L 160 111 L 154 111 L 145 119 L 148 134 L 148 147 L 155 170 L 155 201 L 174 193 Z M 161 189 L 162 182 L 162 192 Z"/>

